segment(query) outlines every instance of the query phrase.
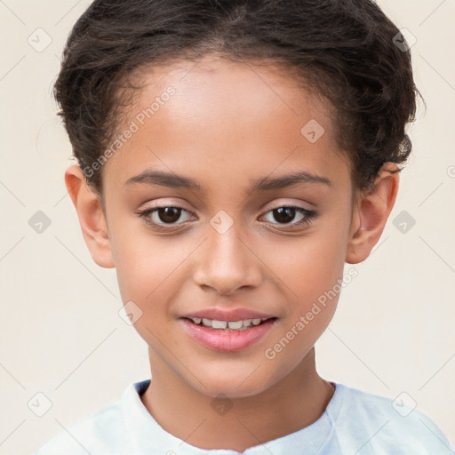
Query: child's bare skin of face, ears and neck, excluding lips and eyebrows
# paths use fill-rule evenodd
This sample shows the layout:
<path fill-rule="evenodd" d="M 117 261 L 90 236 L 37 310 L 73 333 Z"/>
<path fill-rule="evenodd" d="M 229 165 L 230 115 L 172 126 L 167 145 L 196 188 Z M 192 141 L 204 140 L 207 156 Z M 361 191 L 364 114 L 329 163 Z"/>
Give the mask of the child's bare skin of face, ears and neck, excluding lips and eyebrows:
<path fill-rule="evenodd" d="M 264 353 L 343 277 L 346 262 L 369 256 L 399 176 L 387 164 L 352 204 L 350 163 L 336 147 L 328 104 L 298 91 L 283 71 L 215 57 L 155 68 L 124 125 L 169 85 L 175 95 L 104 164 L 105 212 L 79 167 L 70 166 L 65 181 L 93 260 L 116 267 L 124 303 L 142 311 L 134 326 L 148 343 L 153 378 L 142 403 L 189 444 L 244 451 L 307 427 L 330 402 L 334 390 L 315 369 L 314 345 L 338 295 L 275 358 Z M 315 143 L 300 132 L 311 119 L 325 130 Z M 204 190 L 124 185 L 148 168 L 192 178 Z M 296 171 L 331 185 L 251 192 L 254 180 Z M 153 215 L 167 234 L 138 215 L 156 203 L 187 211 L 174 225 Z M 290 205 L 317 216 L 299 226 L 303 217 L 294 212 L 286 224 L 273 209 Z M 224 234 L 210 223 L 220 210 L 233 221 Z M 208 307 L 278 319 L 251 347 L 220 353 L 190 338 L 179 319 Z M 230 406 L 224 414 L 211 405 L 220 394 Z"/>

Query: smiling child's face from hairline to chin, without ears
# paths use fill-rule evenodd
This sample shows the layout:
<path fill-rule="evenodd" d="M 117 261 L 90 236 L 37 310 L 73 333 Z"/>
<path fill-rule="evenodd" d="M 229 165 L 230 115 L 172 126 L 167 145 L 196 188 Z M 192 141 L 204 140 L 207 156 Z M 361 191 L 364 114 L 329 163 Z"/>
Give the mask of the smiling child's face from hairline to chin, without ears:
<path fill-rule="evenodd" d="M 102 168 L 112 265 L 152 376 L 204 395 L 272 387 L 339 297 L 349 163 L 326 105 L 278 75 L 209 59 L 155 69 Z"/>

